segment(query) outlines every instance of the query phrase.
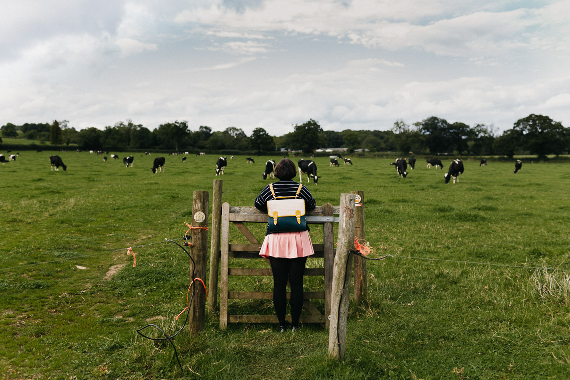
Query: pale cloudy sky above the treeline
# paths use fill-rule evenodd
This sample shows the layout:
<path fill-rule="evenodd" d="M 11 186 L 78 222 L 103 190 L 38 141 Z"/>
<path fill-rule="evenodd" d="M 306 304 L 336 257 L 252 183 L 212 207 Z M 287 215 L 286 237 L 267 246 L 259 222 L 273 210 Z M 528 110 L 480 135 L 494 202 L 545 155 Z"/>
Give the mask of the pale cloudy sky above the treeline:
<path fill-rule="evenodd" d="M 570 127 L 569 0 L 0 0 L 0 125 Z"/>

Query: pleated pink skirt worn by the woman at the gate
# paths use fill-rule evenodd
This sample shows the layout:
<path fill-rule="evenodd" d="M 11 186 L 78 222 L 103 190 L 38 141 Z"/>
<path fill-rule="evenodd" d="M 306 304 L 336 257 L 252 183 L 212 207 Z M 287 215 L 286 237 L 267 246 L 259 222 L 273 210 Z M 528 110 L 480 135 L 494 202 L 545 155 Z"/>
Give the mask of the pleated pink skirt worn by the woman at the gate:
<path fill-rule="evenodd" d="M 279 232 L 265 236 L 259 256 L 268 258 L 295 259 L 314 255 L 313 243 L 309 231 Z"/>

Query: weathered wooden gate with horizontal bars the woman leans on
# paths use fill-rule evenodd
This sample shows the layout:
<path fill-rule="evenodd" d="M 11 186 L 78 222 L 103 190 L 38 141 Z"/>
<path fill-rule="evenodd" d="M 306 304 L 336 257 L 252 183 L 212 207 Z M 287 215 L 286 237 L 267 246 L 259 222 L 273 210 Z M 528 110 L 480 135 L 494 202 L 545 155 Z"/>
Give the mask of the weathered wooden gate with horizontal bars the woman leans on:
<path fill-rule="evenodd" d="M 215 203 L 215 200 L 214 200 Z M 213 212 L 215 212 L 213 210 Z M 338 223 L 339 218 L 334 215 L 339 214 L 339 207 L 333 207 L 327 203 L 324 206 L 317 206 L 315 210 L 306 214 L 307 224 L 311 224 L 312 228 L 317 225 L 323 226 L 323 244 L 313 244 L 315 255 L 310 256 L 310 260 L 314 258 L 323 258 L 324 265 L 322 268 L 306 268 L 306 276 L 324 276 L 324 289 L 318 292 L 304 292 L 303 307 L 309 312 L 300 317 L 302 323 L 320 323 L 328 326 L 328 316 L 330 314 L 330 295 L 332 285 L 332 268 L 334 263 L 334 237 L 333 223 Z M 233 223 L 239 231 L 246 237 L 248 244 L 234 244 L 230 240 L 230 223 Z M 260 239 L 256 238 L 247 228 L 245 223 L 267 223 L 267 214 L 255 209 L 255 207 L 235 207 L 229 203 L 223 203 L 221 207 L 221 226 L 219 228 L 220 242 L 220 328 L 225 329 L 228 323 L 248 322 L 248 323 L 267 323 L 278 322 L 275 314 L 271 315 L 238 315 L 231 314 L 228 308 L 230 299 L 272 299 L 272 292 L 243 292 L 232 291 L 229 289 L 230 276 L 271 276 L 271 268 L 229 268 L 230 258 L 257 259 L 260 260 L 259 250 L 263 242 L 264 236 Z M 213 231 L 214 234 L 214 231 Z M 212 238 L 214 240 L 214 238 Z M 216 250 L 217 251 L 217 250 Z M 210 263 L 211 264 L 211 263 Z M 210 293 L 217 291 L 217 270 L 218 265 L 210 265 L 210 279 L 215 278 L 215 284 L 210 282 Z M 214 271 L 216 273 L 214 273 Z M 211 295 L 212 296 L 212 295 Z M 210 296 L 210 297 L 211 297 Z M 213 295 L 214 297 L 216 295 Z M 287 298 L 290 293 L 287 292 Z M 325 312 L 321 313 L 311 300 L 324 299 Z M 215 298 L 214 298 L 215 300 Z M 291 321 L 291 316 L 287 316 L 287 320 Z"/>

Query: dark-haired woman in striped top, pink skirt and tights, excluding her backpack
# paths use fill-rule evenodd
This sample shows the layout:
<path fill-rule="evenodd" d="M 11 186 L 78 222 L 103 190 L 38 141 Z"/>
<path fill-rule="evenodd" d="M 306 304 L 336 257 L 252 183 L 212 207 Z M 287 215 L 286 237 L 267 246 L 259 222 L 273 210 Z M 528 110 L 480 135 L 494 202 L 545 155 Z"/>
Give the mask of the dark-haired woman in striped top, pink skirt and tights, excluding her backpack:
<path fill-rule="evenodd" d="M 297 197 L 304 199 L 306 211 L 315 209 L 315 198 L 306 186 L 293 181 L 297 170 L 293 161 L 283 158 L 275 166 L 275 177 L 279 181 L 267 185 L 255 198 L 255 208 L 267 213 L 267 201 L 276 197 Z M 300 186 L 300 191 L 299 191 Z M 303 273 L 307 256 L 314 255 L 309 228 L 300 232 L 267 232 L 259 255 L 268 260 L 273 273 L 273 305 L 279 320 L 279 332 L 287 328 L 287 280 L 291 288 L 291 330 L 299 329 L 299 317 L 303 308 Z"/>

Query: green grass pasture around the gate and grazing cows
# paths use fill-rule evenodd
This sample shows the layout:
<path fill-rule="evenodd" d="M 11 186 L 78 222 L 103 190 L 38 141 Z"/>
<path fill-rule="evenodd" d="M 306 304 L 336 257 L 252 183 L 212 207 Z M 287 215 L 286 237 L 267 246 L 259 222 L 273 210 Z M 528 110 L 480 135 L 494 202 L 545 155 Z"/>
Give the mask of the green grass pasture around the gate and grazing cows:
<path fill-rule="evenodd" d="M 186 305 L 190 265 L 165 238 L 186 232 L 193 191 L 211 194 L 217 157 L 166 156 L 165 173 L 152 174 L 156 155 L 137 153 L 125 168 L 58 153 L 67 171 L 50 171 L 50 154 L 21 152 L 0 165 L 0 377 L 181 378 L 168 342 L 135 330 L 181 325 L 173 317 Z M 224 201 L 252 206 L 267 158 L 278 157 L 229 161 Z M 373 255 L 393 255 L 368 261 L 368 300 L 351 303 L 345 360 L 327 359 L 320 326 L 222 331 L 207 313 L 200 337 L 174 340 L 188 378 L 568 378 L 569 164 L 525 162 L 515 175 L 514 162 L 464 160 L 461 182 L 445 185 L 445 171 L 423 160 L 405 179 L 391 160 L 315 161 L 322 178 L 308 187 L 317 205 L 364 190 Z M 136 246 L 133 268 L 127 248 Z M 307 290 L 320 285 L 306 281 Z M 271 279 L 233 286 L 270 291 Z M 231 307 L 272 314 L 268 301 Z"/>

